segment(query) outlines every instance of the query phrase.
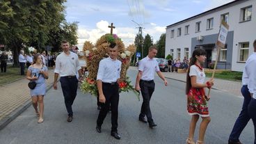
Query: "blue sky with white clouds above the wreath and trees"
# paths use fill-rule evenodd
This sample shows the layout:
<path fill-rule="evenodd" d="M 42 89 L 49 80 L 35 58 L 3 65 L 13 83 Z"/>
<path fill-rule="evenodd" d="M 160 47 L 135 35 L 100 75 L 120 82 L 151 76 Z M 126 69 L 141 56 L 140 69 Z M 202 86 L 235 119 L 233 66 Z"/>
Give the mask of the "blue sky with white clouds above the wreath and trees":
<path fill-rule="evenodd" d="M 147 33 L 156 42 L 166 26 L 182 19 L 216 8 L 233 0 L 67 0 L 67 22 L 79 22 L 78 47 L 89 40 L 96 42 L 101 35 L 110 33 L 113 22 L 116 33 L 125 46 L 132 44 L 138 24 L 143 36 Z M 134 21 L 134 22 L 133 22 Z"/>

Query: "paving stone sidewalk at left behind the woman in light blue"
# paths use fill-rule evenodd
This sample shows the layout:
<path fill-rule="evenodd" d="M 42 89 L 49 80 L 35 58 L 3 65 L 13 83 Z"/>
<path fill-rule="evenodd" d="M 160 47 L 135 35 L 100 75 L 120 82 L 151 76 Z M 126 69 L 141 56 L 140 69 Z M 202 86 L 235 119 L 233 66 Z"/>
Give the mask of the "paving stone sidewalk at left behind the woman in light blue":
<path fill-rule="evenodd" d="M 54 82 L 54 70 L 49 69 L 47 90 Z M 31 105 L 29 80 L 25 77 L 0 86 L 0 130 Z"/>

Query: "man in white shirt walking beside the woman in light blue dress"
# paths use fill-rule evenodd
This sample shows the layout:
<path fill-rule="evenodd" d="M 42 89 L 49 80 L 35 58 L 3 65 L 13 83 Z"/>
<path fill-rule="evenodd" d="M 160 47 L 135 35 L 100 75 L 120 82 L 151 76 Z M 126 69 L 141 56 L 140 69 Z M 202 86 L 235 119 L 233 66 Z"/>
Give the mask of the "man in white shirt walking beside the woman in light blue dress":
<path fill-rule="evenodd" d="M 54 70 L 54 89 L 57 89 L 57 79 L 60 75 L 61 88 L 63 91 L 65 106 L 67 109 L 68 117 L 67 122 L 72 122 L 73 111 L 72 104 L 77 96 L 78 80 L 76 77 L 79 72 L 79 79 L 82 80 L 81 66 L 77 54 L 70 52 L 69 42 L 63 40 L 61 42 L 63 52 L 56 58 L 56 67 Z"/>

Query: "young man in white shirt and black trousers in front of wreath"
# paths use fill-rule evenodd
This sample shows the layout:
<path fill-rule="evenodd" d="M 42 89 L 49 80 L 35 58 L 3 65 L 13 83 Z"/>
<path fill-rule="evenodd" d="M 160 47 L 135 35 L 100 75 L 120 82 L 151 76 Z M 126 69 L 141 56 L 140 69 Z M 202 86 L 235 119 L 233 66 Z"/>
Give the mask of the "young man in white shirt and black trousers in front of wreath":
<path fill-rule="evenodd" d="M 102 108 L 97 118 L 96 130 L 102 132 L 102 123 L 106 118 L 111 105 L 111 136 L 120 139 L 118 134 L 118 102 L 119 102 L 119 86 L 122 62 L 117 59 L 118 45 L 112 42 L 109 46 L 109 58 L 104 58 L 99 62 L 99 70 L 97 73 L 97 88 L 99 91 L 99 102 Z"/>

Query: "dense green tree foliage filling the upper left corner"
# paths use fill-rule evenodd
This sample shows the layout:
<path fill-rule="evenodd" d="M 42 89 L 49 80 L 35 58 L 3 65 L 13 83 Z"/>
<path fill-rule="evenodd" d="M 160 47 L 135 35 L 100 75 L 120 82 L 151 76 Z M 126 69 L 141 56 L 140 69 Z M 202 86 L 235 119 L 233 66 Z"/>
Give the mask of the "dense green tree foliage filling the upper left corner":
<path fill-rule="evenodd" d="M 0 44 L 13 51 L 15 65 L 18 51 L 25 45 L 38 51 L 51 45 L 58 51 L 63 39 L 77 44 L 77 22 L 66 22 L 65 1 L 0 1 Z"/>

